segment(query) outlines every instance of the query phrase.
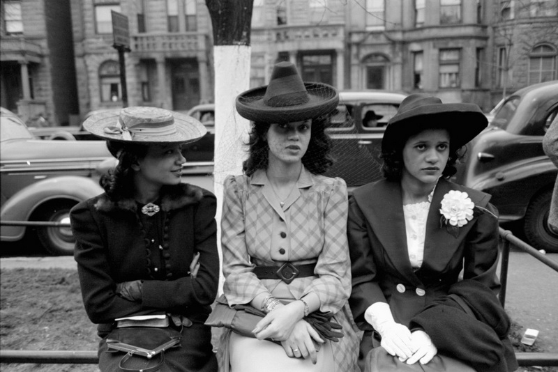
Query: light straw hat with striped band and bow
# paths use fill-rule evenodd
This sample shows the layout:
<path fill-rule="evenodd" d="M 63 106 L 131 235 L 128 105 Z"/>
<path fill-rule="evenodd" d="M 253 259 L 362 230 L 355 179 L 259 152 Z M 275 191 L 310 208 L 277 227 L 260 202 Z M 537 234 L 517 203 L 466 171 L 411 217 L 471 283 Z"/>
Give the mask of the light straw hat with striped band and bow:
<path fill-rule="evenodd" d="M 83 127 L 103 139 L 142 144 L 186 144 L 207 130 L 195 118 L 157 107 L 126 107 L 87 118 Z"/>

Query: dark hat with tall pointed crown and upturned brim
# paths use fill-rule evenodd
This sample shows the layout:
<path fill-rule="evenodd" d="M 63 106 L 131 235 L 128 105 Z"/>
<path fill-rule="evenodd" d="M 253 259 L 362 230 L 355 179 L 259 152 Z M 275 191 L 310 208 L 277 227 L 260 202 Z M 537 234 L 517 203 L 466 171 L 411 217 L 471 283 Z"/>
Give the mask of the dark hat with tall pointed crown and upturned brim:
<path fill-rule="evenodd" d="M 273 67 L 269 85 L 236 97 L 236 110 L 250 121 L 290 123 L 329 114 L 338 103 L 333 86 L 303 82 L 292 63 L 280 62 Z"/>

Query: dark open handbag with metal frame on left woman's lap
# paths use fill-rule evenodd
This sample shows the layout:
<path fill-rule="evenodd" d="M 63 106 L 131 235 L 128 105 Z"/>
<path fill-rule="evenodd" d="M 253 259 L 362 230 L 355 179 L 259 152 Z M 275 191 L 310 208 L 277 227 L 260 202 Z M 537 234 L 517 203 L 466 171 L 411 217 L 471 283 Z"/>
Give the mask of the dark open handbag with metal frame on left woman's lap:
<path fill-rule="evenodd" d="M 118 365 L 121 371 L 155 372 L 165 364 L 165 350 L 180 347 L 181 338 L 181 331 L 171 326 L 119 325 L 107 336 L 107 352 L 126 352 Z"/>

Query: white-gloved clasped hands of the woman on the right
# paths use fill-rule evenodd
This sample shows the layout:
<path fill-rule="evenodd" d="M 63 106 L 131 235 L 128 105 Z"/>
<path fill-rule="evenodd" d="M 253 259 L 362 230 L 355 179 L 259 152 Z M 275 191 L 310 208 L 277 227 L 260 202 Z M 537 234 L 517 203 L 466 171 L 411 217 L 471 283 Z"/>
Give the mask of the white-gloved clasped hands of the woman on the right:
<path fill-rule="evenodd" d="M 380 331 L 379 331 L 380 332 Z M 389 354 L 399 357 L 401 362 L 427 364 L 437 354 L 438 349 L 426 332 L 409 328 L 400 323 L 390 323 L 382 327 L 382 347 Z"/>

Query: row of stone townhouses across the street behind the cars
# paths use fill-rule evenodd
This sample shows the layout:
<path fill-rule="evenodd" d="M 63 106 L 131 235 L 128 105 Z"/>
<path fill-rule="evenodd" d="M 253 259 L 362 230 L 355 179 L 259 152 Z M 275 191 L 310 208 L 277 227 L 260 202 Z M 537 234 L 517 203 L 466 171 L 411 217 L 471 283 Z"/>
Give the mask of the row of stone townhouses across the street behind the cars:
<path fill-rule="evenodd" d="M 213 101 L 204 0 L 45 3 L 2 1 L 2 106 L 54 123 L 121 107 L 111 10 L 128 17 L 129 105 L 184 111 Z M 4 10 L 17 4 L 12 19 Z M 254 0 L 250 86 L 292 61 L 306 81 L 426 92 L 489 111 L 503 95 L 558 78 L 557 33 L 555 0 Z"/>

